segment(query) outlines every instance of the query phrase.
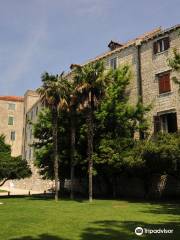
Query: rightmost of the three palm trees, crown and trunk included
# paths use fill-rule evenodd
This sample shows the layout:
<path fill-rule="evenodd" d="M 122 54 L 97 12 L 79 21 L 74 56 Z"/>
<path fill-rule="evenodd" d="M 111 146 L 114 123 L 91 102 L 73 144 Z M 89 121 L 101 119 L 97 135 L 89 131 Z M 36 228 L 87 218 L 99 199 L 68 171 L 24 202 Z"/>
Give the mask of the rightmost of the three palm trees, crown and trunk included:
<path fill-rule="evenodd" d="M 74 65 L 74 81 L 86 112 L 87 123 L 87 158 L 89 172 L 89 201 L 93 198 L 93 136 L 94 136 L 94 111 L 105 94 L 108 75 L 104 72 L 101 61 L 84 66 Z"/>

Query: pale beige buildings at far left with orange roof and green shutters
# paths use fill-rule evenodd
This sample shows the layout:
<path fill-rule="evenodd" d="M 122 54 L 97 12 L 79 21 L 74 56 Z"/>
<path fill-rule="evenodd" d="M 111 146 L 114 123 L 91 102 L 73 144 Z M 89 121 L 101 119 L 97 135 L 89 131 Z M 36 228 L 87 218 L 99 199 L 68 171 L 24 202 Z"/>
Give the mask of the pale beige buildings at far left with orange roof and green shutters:
<path fill-rule="evenodd" d="M 0 96 L 0 134 L 11 145 L 12 156 L 22 155 L 31 166 L 32 177 L 14 180 L 16 188 L 44 191 L 53 187 L 52 181 L 42 180 L 33 164 L 34 154 L 31 144 L 34 141 L 32 124 L 41 108 L 37 92 L 28 90 L 24 97 Z M 5 183 L 9 187 L 10 181 Z"/>

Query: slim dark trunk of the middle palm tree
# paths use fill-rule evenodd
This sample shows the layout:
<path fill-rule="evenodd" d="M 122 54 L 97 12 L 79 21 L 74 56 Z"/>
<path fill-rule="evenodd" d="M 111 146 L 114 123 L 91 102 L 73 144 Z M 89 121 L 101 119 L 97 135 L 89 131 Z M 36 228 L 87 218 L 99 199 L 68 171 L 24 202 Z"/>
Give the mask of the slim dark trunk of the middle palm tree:
<path fill-rule="evenodd" d="M 72 115 L 71 115 L 71 194 L 70 194 L 71 199 L 74 199 L 75 138 L 76 138 L 75 112 L 74 110 L 72 110 Z"/>

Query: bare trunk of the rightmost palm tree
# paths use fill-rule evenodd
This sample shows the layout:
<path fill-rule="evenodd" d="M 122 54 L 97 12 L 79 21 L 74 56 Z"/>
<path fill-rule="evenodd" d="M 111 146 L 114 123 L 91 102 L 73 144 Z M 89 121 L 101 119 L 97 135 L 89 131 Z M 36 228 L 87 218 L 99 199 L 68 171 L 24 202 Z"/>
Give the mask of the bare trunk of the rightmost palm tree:
<path fill-rule="evenodd" d="M 93 112 L 92 109 L 88 109 L 87 113 L 87 155 L 88 155 L 88 163 L 89 163 L 89 201 L 92 202 L 93 199 L 93 133 L 94 133 L 94 126 L 93 126 Z"/>

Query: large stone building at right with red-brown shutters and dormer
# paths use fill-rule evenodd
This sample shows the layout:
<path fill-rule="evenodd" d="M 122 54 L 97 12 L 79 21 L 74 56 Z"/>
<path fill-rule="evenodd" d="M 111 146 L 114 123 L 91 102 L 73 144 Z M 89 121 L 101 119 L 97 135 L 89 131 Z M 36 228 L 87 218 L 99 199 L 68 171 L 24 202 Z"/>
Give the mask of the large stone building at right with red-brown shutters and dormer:
<path fill-rule="evenodd" d="M 180 129 L 180 96 L 177 84 L 172 81 L 172 77 L 180 78 L 180 74 L 168 66 L 173 50 L 180 52 L 179 32 L 180 25 L 176 25 L 154 29 L 125 44 L 111 41 L 109 51 L 87 62 L 102 60 L 106 69 L 125 64 L 131 67 L 130 102 L 136 103 L 140 98 L 145 106 L 152 105 L 148 113 L 151 132 Z"/>

